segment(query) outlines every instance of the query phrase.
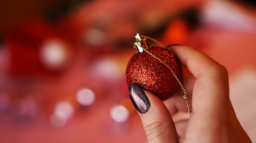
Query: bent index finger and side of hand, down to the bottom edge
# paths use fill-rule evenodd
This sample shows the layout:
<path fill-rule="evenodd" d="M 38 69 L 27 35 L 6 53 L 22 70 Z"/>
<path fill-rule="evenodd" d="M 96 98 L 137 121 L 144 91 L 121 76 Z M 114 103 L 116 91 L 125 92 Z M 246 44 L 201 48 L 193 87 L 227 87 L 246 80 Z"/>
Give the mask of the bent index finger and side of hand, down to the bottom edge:
<path fill-rule="evenodd" d="M 229 100 L 227 69 L 195 48 L 173 46 L 171 49 L 196 78 L 192 93 L 193 115 L 185 141 L 249 142 Z"/>

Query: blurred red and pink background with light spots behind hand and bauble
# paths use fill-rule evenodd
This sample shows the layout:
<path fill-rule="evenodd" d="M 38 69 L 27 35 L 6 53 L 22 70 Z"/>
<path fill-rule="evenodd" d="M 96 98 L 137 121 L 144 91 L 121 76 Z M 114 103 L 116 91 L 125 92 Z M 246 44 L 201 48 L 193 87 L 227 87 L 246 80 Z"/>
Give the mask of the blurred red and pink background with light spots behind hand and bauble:
<path fill-rule="evenodd" d="M 136 32 L 227 67 L 256 143 L 253 0 L 2 0 L 0 21 L 2 143 L 146 143 L 125 78 Z"/>

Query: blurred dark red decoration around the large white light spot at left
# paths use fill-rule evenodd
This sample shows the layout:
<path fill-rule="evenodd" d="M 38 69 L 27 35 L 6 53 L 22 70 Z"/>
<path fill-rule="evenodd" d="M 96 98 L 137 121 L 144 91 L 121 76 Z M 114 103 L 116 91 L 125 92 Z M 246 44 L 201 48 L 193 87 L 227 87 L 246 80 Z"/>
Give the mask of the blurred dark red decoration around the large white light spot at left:
<path fill-rule="evenodd" d="M 49 68 L 41 58 L 41 48 L 45 42 L 58 39 L 63 45 L 69 45 L 61 35 L 59 29 L 43 19 L 31 20 L 20 24 L 7 33 L 5 38 L 7 48 L 11 51 L 10 74 L 12 76 L 43 76 L 60 72 L 61 68 Z M 62 46 L 63 51 L 72 53 L 70 46 Z M 59 50 L 60 51 L 60 50 Z M 64 55 L 68 56 L 68 55 Z M 70 58 L 70 57 L 66 57 Z M 64 67 L 64 66 L 63 66 Z"/>

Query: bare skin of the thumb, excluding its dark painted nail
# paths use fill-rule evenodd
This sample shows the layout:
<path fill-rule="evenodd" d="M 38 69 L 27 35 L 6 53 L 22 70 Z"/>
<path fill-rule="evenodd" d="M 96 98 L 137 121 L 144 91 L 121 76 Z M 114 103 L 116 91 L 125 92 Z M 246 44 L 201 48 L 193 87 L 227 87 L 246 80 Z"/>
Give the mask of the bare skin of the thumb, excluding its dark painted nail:
<path fill-rule="evenodd" d="M 153 93 L 144 90 L 150 102 L 149 110 L 139 114 L 148 143 L 177 142 L 175 124 L 164 103 Z"/>

